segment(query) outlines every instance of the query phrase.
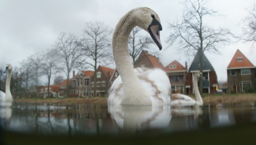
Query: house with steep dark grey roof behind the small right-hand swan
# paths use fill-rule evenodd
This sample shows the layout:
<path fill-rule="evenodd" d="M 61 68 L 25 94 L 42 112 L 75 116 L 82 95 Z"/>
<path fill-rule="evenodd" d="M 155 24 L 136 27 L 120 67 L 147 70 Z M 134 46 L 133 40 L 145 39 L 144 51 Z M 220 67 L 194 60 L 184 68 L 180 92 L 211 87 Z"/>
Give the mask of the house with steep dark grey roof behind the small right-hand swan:
<path fill-rule="evenodd" d="M 196 71 L 200 70 L 200 60 L 199 55 L 196 53 L 195 58 L 193 59 L 193 62 L 191 63 L 191 66 L 188 69 L 188 80 L 186 81 L 186 94 L 194 93 L 193 88 L 193 75 Z M 214 71 L 214 68 L 212 67 L 211 63 L 203 55 L 203 72 L 202 72 L 205 80 L 203 81 L 203 93 L 216 93 L 216 85 L 218 84 L 218 78 L 217 74 Z M 199 87 L 199 82 L 198 82 Z"/>

